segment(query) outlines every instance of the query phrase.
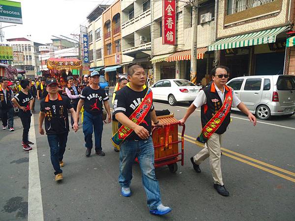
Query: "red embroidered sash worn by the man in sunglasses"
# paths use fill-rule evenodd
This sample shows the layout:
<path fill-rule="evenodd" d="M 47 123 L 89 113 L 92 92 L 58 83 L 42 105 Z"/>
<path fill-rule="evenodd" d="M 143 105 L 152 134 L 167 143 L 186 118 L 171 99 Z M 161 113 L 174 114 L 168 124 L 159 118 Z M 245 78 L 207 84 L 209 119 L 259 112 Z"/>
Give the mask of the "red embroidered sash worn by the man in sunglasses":
<path fill-rule="evenodd" d="M 208 121 L 205 127 L 202 129 L 201 134 L 198 136 L 197 141 L 206 143 L 207 140 L 214 134 L 220 125 L 223 123 L 225 117 L 231 110 L 233 103 L 233 89 L 226 93 L 224 103 L 222 107 L 214 114 L 214 116 Z"/>

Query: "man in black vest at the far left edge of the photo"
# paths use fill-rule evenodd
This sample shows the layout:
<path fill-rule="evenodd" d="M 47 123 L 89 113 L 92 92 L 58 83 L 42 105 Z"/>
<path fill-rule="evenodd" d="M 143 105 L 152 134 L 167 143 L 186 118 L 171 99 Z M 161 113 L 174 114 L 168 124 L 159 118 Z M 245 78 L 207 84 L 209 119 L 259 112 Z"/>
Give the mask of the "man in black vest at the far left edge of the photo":
<path fill-rule="evenodd" d="M 14 98 L 13 91 L 10 87 L 7 86 L 8 80 L 2 78 L 0 80 L 0 117 L 3 124 L 3 130 L 7 129 L 7 120 L 8 120 L 8 130 L 14 131 L 13 129 L 13 105 L 11 99 Z"/>

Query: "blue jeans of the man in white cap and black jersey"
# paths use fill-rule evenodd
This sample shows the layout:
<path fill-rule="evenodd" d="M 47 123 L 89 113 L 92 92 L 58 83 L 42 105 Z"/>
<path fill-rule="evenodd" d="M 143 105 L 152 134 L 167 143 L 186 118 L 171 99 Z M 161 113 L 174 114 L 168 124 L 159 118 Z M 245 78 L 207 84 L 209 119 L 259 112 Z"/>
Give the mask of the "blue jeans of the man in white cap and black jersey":
<path fill-rule="evenodd" d="M 92 149 L 93 129 L 94 129 L 94 138 L 95 138 L 95 151 L 102 150 L 101 148 L 101 136 L 102 136 L 102 130 L 103 130 L 102 114 L 93 115 L 87 111 L 84 111 L 83 133 L 84 133 L 86 148 Z"/>

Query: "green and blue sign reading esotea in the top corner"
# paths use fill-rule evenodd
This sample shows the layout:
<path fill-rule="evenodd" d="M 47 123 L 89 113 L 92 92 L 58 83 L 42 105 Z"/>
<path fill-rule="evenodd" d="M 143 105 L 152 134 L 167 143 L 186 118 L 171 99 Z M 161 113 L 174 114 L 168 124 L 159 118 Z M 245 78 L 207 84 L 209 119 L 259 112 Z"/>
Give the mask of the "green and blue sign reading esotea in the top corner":
<path fill-rule="evenodd" d="M 23 24 L 21 2 L 0 0 L 0 22 Z"/>

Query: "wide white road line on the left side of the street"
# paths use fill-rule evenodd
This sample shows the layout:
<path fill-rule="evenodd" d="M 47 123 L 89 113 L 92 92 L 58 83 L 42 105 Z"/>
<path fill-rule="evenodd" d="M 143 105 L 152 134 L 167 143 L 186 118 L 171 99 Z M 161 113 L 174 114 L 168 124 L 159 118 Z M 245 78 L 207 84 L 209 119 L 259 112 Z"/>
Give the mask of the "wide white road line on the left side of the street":
<path fill-rule="evenodd" d="M 29 140 L 34 145 L 29 151 L 28 221 L 44 221 L 34 115 L 31 117 Z"/>

